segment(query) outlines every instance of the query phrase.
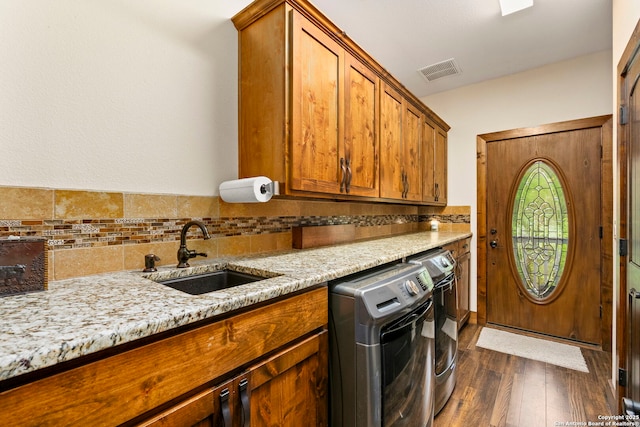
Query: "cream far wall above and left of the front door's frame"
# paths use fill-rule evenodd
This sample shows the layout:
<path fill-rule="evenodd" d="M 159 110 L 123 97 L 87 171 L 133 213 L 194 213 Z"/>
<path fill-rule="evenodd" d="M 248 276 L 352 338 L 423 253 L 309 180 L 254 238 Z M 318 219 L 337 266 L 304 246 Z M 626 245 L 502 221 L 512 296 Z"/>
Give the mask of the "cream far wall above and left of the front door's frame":
<path fill-rule="evenodd" d="M 448 202 L 471 206 L 474 234 L 477 135 L 611 114 L 610 81 L 611 51 L 604 51 L 422 99 L 451 126 Z M 474 311 L 476 255 L 472 251 L 470 304 Z"/>

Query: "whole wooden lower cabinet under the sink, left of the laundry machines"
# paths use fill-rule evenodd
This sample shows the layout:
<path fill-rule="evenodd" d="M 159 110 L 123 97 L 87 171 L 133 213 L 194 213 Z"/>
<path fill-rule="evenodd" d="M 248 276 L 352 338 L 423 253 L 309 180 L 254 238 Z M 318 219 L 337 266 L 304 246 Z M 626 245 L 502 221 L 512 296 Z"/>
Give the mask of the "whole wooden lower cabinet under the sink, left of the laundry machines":
<path fill-rule="evenodd" d="M 0 392 L 2 425 L 326 426 L 327 323 L 325 286 L 110 351 Z"/>

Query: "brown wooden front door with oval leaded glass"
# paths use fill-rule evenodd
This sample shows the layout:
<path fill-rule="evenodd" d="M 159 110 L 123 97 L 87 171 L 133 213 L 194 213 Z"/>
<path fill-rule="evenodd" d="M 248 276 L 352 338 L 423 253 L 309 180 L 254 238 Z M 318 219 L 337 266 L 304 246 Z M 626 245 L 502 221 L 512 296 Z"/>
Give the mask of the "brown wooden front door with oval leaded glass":
<path fill-rule="evenodd" d="M 565 127 L 486 145 L 486 316 L 601 344 L 602 128 Z"/>

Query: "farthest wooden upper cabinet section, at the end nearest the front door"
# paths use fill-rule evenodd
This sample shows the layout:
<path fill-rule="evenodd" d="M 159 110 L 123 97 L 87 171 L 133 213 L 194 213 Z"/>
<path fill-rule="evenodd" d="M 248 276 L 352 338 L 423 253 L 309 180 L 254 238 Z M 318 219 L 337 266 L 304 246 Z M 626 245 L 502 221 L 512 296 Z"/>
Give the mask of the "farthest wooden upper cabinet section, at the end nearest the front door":
<path fill-rule="evenodd" d="M 446 205 L 447 132 L 428 118 L 422 130 L 422 201 Z"/>

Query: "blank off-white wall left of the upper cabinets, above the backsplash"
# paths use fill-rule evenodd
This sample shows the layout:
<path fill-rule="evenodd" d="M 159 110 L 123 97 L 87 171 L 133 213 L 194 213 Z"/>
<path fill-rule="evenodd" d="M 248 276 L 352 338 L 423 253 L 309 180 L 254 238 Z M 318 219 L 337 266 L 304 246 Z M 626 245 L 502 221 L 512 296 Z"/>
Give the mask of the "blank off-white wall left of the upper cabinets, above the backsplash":
<path fill-rule="evenodd" d="M 0 0 L 0 185 L 214 195 L 250 0 Z"/>

